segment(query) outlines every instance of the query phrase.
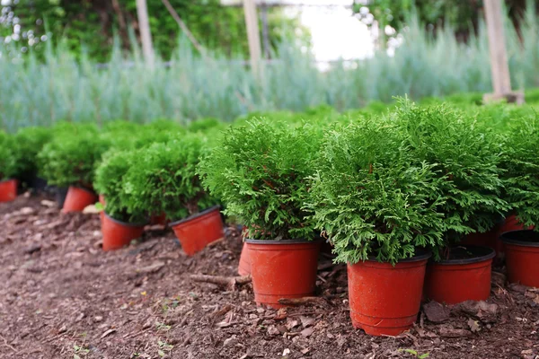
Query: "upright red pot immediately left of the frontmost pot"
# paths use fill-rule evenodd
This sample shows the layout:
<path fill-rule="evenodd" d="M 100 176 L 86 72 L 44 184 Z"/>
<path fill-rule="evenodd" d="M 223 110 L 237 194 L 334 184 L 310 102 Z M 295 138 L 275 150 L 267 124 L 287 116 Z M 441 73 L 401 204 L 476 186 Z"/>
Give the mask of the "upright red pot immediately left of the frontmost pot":
<path fill-rule="evenodd" d="M 282 308 L 281 298 L 314 294 L 321 241 L 245 240 L 251 257 L 254 301 Z"/>

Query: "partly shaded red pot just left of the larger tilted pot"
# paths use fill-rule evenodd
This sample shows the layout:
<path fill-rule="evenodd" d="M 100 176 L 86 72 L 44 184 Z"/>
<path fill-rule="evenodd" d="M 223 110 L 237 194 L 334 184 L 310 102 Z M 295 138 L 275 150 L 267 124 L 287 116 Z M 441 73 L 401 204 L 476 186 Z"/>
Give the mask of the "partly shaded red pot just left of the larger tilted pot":
<path fill-rule="evenodd" d="M 144 223 L 125 223 L 102 215 L 103 250 L 119 250 L 142 236 Z"/>

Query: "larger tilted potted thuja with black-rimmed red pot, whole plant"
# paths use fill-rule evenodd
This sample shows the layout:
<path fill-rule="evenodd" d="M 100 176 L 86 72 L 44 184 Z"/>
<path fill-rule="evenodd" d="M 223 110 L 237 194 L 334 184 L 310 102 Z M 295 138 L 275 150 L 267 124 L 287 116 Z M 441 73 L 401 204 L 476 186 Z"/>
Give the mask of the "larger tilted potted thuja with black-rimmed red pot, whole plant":
<path fill-rule="evenodd" d="M 207 140 L 186 134 L 141 150 L 126 176 L 129 208 L 166 215 L 188 255 L 224 237 L 215 197 L 204 190 L 196 172 Z"/>

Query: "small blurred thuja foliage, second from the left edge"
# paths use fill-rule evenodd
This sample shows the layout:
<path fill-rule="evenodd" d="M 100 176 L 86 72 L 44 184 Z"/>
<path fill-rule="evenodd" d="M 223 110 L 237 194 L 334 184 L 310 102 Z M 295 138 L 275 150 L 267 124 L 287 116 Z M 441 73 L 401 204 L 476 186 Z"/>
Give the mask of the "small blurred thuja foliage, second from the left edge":
<path fill-rule="evenodd" d="M 23 127 L 17 131 L 14 140 L 18 152 L 20 175 L 29 179 L 38 172 L 38 153 L 52 139 L 50 127 Z"/>

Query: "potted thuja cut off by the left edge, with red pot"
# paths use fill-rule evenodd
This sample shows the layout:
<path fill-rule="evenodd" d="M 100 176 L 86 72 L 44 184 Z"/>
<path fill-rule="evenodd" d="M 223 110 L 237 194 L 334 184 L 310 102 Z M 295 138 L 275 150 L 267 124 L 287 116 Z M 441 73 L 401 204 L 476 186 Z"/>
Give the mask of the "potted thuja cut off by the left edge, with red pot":
<path fill-rule="evenodd" d="M 13 136 L 0 130 L 0 202 L 10 202 L 17 197 L 18 173 L 17 147 Z"/>

